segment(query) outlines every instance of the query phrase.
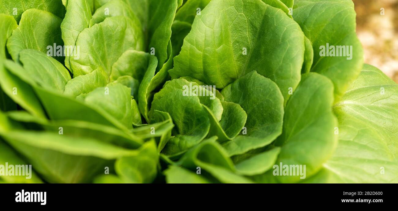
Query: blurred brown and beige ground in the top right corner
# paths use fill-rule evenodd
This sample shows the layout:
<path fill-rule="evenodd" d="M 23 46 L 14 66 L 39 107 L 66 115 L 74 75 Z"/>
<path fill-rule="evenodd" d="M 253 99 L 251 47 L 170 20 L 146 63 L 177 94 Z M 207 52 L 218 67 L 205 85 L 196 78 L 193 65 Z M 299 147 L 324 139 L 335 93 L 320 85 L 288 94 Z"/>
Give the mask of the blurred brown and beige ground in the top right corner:
<path fill-rule="evenodd" d="M 365 63 L 398 83 L 398 0 L 353 0 Z"/>

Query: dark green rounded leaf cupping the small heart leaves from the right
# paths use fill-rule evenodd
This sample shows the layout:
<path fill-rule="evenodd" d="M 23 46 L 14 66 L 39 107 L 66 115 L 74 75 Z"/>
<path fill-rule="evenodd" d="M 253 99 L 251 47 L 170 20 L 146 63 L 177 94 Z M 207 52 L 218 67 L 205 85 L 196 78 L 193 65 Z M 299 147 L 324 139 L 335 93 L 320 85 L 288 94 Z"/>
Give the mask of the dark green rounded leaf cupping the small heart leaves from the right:
<path fill-rule="evenodd" d="M 247 114 L 241 134 L 222 143 L 228 155 L 240 155 L 270 144 L 282 133 L 283 96 L 270 79 L 253 71 L 222 89 L 225 101 L 239 104 Z"/>

